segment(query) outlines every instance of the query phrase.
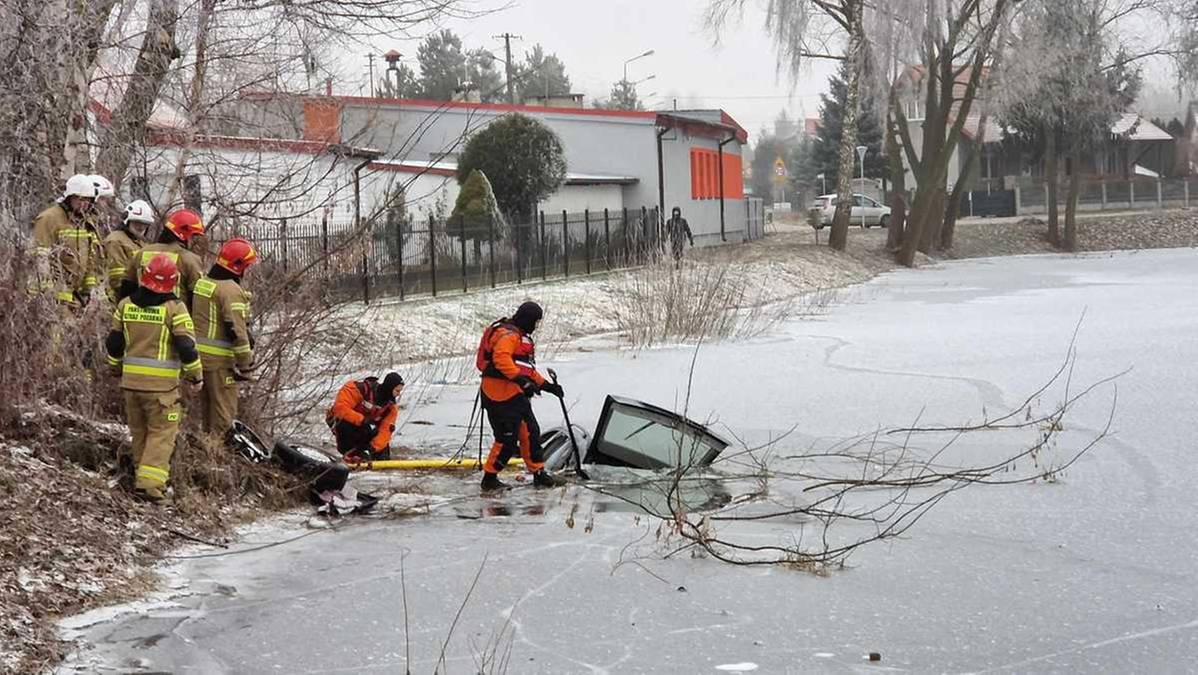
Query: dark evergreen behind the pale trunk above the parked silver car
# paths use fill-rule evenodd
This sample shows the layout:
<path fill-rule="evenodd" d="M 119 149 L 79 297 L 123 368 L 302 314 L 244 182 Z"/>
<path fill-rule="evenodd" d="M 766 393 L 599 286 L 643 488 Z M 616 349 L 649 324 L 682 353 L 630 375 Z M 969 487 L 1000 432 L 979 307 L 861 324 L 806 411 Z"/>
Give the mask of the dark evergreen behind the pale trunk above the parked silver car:
<path fill-rule="evenodd" d="M 848 64 L 828 79 L 828 94 L 819 95 L 819 135 L 812 147 L 816 174 L 824 174 L 828 185 L 835 185 L 840 171 L 840 137 L 843 129 L 845 102 L 848 100 Z M 857 144 L 869 147 L 865 155 L 865 177 L 879 179 L 888 175 L 884 155 L 882 117 L 870 97 L 861 97 L 861 112 L 857 117 Z M 860 164 L 853 179 L 860 176 Z"/>

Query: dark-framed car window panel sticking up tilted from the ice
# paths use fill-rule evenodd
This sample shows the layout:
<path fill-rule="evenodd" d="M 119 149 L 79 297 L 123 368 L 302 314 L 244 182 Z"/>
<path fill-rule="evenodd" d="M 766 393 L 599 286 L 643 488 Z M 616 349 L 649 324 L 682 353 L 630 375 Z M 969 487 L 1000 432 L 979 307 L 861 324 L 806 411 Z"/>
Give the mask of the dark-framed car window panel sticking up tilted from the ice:
<path fill-rule="evenodd" d="M 587 462 L 637 469 L 706 466 L 727 446 L 727 441 L 680 415 L 609 396 Z"/>

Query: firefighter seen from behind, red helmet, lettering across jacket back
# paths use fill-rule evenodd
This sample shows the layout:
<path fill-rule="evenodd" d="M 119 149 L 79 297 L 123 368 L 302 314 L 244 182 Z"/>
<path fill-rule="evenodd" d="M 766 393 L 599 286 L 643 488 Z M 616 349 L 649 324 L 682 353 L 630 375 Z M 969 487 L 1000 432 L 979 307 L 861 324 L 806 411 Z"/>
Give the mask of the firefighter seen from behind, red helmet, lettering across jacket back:
<path fill-rule="evenodd" d="M 183 412 L 180 375 L 199 391 L 200 355 L 187 307 L 175 297 L 179 270 L 163 253 L 141 271 L 141 283 L 116 305 L 104 346 L 108 363 L 121 375 L 125 415 L 133 435 L 134 494 L 149 501 L 167 498 L 170 457 Z"/>

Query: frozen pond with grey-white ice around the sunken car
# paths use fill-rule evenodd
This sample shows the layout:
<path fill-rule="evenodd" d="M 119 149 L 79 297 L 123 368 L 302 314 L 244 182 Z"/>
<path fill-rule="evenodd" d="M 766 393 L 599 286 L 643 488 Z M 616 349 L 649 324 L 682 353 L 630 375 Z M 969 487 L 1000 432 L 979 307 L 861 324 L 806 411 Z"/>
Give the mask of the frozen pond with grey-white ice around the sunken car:
<path fill-rule="evenodd" d="M 65 670 L 403 673 L 410 653 L 411 670 L 428 673 L 480 568 L 444 647 L 450 673 L 1193 669 L 1198 252 L 952 263 L 885 275 L 847 300 L 697 356 L 593 351 L 546 364 L 589 426 L 607 392 L 682 409 L 696 358 L 691 417 L 750 442 L 793 427 L 779 450 L 799 451 L 916 417 L 1006 412 L 1060 367 L 1084 313 L 1075 386 L 1132 368 L 1117 382 L 1112 435 L 1059 483 L 952 494 L 827 577 L 665 560 L 657 522 L 579 487 L 483 500 L 477 474 L 429 478 L 417 487 L 454 501 L 428 516 L 179 562 L 165 599 L 72 620 L 90 646 Z M 546 320 L 555 311 L 567 309 Z M 1053 452 L 1093 438 L 1112 393 L 1073 410 Z M 466 422 L 472 398 L 443 387 L 406 417 L 432 424 L 409 423 L 401 439 L 460 442 L 447 424 Z M 537 406 L 558 423 L 553 400 Z M 952 460 L 1014 454 L 1012 440 L 973 439 Z M 305 532 L 262 526 L 238 546 Z M 738 531 L 762 543 L 797 532 Z"/>

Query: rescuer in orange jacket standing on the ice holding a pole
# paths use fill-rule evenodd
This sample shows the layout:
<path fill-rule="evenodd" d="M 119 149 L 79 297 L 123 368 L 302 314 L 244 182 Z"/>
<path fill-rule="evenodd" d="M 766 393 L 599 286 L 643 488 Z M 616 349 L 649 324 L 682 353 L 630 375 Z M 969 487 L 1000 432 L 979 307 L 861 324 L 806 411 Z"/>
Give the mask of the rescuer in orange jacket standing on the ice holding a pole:
<path fill-rule="evenodd" d="M 500 481 L 498 472 L 516 453 L 533 475 L 534 486 L 552 488 L 564 484 L 564 481 L 545 471 L 540 424 L 530 402 L 540 392 L 563 396 L 559 385 L 545 380 L 537 372 L 537 345 L 532 333 L 541 317 L 544 312 L 539 305 L 525 302 L 510 319 L 491 324 L 479 343 L 478 366 L 483 372 L 480 398 L 495 433 L 491 453 L 483 464 L 483 490 L 508 487 Z"/>

